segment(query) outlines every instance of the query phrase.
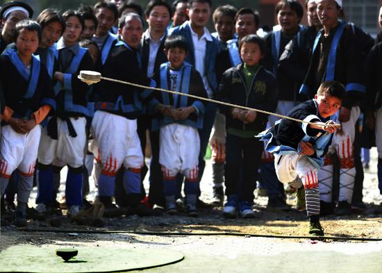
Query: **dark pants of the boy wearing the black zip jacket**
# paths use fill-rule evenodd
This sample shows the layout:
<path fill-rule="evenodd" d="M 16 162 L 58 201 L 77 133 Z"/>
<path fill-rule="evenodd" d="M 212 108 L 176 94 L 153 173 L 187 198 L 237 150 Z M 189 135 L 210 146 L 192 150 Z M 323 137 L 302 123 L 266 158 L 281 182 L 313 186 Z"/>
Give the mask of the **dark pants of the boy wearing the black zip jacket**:
<path fill-rule="evenodd" d="M 254 201 L 263 148 L 263 142 L 260 142 L 258 138 L 241 138 L 227 133 L 225 165 L 227 197 L 238 195 L 239 200 Z M 242 167 L 242 183 L 239 183 L 240 166 Z"/>

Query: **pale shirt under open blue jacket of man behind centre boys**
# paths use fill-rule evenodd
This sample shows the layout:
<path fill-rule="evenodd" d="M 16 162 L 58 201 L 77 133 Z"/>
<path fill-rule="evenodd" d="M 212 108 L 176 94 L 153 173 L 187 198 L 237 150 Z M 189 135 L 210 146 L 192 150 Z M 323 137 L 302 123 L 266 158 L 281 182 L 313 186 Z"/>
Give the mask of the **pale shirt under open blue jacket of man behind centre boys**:
<path fill-rule="evenodd" d="M 197 33 L 194 33 L 192 30 L 190 22 L 188 22 L 190 25 L 190 31 L 191 31 L 191 37 L 192 37 L 192 44 L 194 44 L 194 57 L 195 57 L 195 69 L 200 73 L 201 78 L 203 79 L 204 88 L 206 88 L 208 97 L 212 97 L 213 90 L 210 88 L 210 85 L 208 83 L 208 78 L 206 75 L 206 65 L 204 63 L 204 60 L 206 58 L 206 44 L 208 42 L 213 41 L 213 37 L 211 36 L 210 32 L 207 28 L 204 28 L 204 33 L 199 39 Z"/>

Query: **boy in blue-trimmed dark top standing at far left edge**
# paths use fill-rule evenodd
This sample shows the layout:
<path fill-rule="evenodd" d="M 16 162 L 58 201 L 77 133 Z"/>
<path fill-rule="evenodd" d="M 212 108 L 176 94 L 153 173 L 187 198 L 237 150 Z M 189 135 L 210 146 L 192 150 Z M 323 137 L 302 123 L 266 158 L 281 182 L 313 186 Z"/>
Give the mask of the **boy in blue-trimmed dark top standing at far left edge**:
<path fill-rule="evenodd" d="M 40 123 L 56 108 L 51 78 L 33 53 L 41 40 L 40 25 L 22 20 L 15 28 L 16 49 L 0 58 L 5 107 L 1 122 L 0 188 L 3 196 L 10 174 L 19 169 L 15 225 L 26 226 L 26 207 L 40 142 Z"/>

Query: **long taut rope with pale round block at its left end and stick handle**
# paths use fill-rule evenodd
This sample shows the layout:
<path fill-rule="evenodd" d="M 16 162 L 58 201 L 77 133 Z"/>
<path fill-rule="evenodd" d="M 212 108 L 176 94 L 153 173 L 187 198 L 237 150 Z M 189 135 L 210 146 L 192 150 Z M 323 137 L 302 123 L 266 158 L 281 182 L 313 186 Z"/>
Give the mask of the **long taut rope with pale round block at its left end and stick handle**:
<path fill-rule="evenodd" d="M 106 77 L 101 76 L 101 74 L 99 72 L 94 72 L 94 71 L 81 70 L 80 74 L 78 75 L 78 78 L 81 81 L 83 81 L 84 83 L 88 83 L 88 85 L 92 85 L 94 83 L 98 83 L 101 80 L 113 81 L 115 83 L 122 83 L 122 84 L 126 84 L 126 85 L 131 85 L 131 86 L 135 86 L 137 88 L 151 89 L 151 90 L 156 90 L 156 91 L 161 91 L 161 92 L 178 94 L 178 95 L 181 95 L 181 96 L 192 97 L 194 99 L 201 99 L 201 100 L 204 100 L 204 101 L 214 102 L 215 104 L 222 104 L 222 105 L 225 105 L 225 106 L 241 108 L 241 109 L 244 109 L 244 110 L 256 111 L 256 112 L 267 114 L 267 115 L 274 115 L 275 117 L 281 117 L 283 119 L 290 119 L 290 120 L 292 120 L 294 122 L 301 122 L 301 123 L 306 123 L 306 124 L 310 124 L 310 125 L 317 125 L 317 124 L 315 124 L 313 122 L 306 122 L 306 121 L 301 120 L 301 119 L 294 119 L 293 117 L 288 117 L 288 116 L 285 116 L 285 115 L 280 115 L 280 114 L 276 114 L 276 113 L 272 113 L 272 112 L 267 112 L 265 110 L 260 110 L 260 109 L 256 109 L 256 108 L 249 108 L 247 106 L 240 106 L 240 105 L 236 105 L 236 104 L 229 104 L 228 102 L 224 102 L 224 101 L 217 101 L 215 99 L 208 99 L 208 98 L 204 98 L 204 97 L 198 97 L 198 96 L 195 96 L 193 94 L 185 94 L 185 93 L 176 92 L 176 91 L 172 91 L 172 90 L 166 90 L 166 89 L 163 89 L 163 88 L 152 88 L 150 86 L 144 86 L 144 85 L 140 85 L 140 84 L 137 84 L 137 83 L 129 83 L 128 81 L 120 81 L 120 80 L 117 80 L 115 78 L 106 78 Z M 326 124 L 325 127 L 341 127 L 341 124 Z"/>

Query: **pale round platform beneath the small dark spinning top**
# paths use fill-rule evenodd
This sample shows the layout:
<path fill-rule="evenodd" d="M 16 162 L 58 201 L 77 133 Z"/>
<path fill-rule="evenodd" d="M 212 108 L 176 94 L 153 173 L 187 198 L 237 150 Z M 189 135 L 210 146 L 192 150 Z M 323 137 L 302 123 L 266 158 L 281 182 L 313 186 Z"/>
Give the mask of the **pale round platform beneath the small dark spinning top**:
<path fill-rule="evenodd" d="M 138 247 L 76 247 L 78 255 L 65 262 L 60 247 L 14 246 L 0 253 L 0 272 L 117 272 L 177 263 L 180 252 Z"/>

